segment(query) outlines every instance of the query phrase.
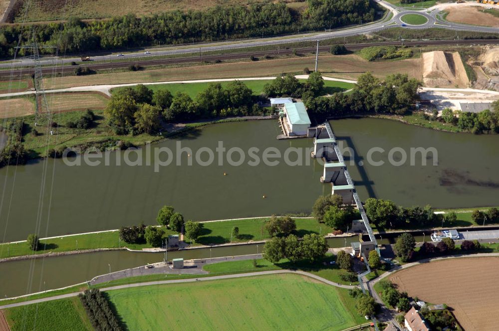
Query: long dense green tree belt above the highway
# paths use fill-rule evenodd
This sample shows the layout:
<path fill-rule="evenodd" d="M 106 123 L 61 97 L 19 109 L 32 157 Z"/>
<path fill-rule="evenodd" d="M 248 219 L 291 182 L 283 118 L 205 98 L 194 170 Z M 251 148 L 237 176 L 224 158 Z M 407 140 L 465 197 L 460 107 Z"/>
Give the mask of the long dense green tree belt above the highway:
<path fill-rule="evenodd" d="M 14 24 L 0 28 L 0 57 L 12 56 L 19 38 L 21 44 L 36 39 L 64 52 L 81 53 L 322 30 L 370 22 L 377 8 L 369 0 L 308 0 L 303 13 L 282 2 L 269 2 L 216 6 L 205 11 L 176 10 L 143 17 L 130 13 L 90 22 L 70 17 L 64 23 L 33 24 L 27 28 Z"/>

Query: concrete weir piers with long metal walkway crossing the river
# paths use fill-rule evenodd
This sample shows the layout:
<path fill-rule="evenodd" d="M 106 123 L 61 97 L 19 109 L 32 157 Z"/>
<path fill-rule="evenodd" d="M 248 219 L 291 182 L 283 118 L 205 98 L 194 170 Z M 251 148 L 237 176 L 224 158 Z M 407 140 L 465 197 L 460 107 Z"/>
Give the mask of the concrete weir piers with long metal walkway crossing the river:
<path fill-rule="evenodd" d="M 328 122 L 325 122 L 316 127 L 308 128 L 307 137 L 314 138 L 314 149 L 311 157 L 322 159 L 324 162 L 324 172 L 320 177 L 320 181 L 330 182 L 332 185 L 331 194 L 340 195 L 344 203 L 355 204 L 357 206 L 369 239 L 374 243 L 374 248 L 378 252 L 378 255 L 380 255 L 379 246 L 369 225 L 366 211 L 355 190 L 355 185 L 345 165 L 343 155 L 340 152 L 338 144 L 336 144 L 333 129 L 331 129 Z"/>

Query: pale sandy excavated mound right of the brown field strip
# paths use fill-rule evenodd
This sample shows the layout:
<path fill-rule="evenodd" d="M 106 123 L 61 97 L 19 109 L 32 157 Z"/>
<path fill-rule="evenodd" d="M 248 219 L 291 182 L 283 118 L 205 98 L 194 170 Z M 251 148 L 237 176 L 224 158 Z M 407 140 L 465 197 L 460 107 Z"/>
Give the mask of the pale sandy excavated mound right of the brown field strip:
<path fill-rule="evenodd" d="M 470 81 L 458 52 L 423 53 L 423 81 L 429 87 L 468 87 Z"/>

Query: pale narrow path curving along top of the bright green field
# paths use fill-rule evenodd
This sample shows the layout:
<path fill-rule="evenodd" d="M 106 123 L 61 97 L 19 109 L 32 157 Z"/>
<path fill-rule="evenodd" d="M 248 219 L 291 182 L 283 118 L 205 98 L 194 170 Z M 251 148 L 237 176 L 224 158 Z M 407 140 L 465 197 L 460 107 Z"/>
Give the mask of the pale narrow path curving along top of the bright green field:
<path fill-rule="evenodd" d="M 101 291 L 112 291 L 112 290 L 130 289 L 130 288 L 134 288 L 134 287 L 150 286 L 150 285 L 206 282 L 206 281 L 221 280 L 221 279 L 233 279 L 233 278 L 254 277 L 254 276 L 263 276 L 263 275 L 276 275 L 276 274 L 303 275 L 303 276 L 307 276 L 307 277 L 313 278 L 315 280 L 318 280 L 318 281 L 325 283 L 327 285 L 336 286 L 336 287 L 343 288 L 343 289 L 353 289 L 356 287 L 356 286 L 349 286 L 349 285 L 341 285 L 341 284 L 338 284 L 335 282 L 331 282 L 325 278 L 316 276 L 314 274 L 310 274 L 308 272 L 299 271 L 299 270 L 296 270 L 296 271 L 295 270 L 270 270 L 270 271 L 250 272 L 250 273 L 244 273 L 244 274 L 222 275 L 222 276 L 203 277 L 203 278 L 187 278 L 187 279 L 174 279 L 174 280 L 165 280 L 165 281 L 125 284 L 125 285 L 110 286 L 110 287 L 102 288 L 100 290 Z M 41 302 L 72 298 L 72 297 L 78 296 L 80 293 L 83 293 L 83 292 L 61 294 L 58 296 L 53 296 L 53 297 L 48 297 L 48 298 L 41 298 L 41 299 L 24 301 L 24 302 L 18 302 L 18 303 L 14 303 L 14 304 L 3 305 L 3 306 L 0 306 L 0 310 L 6 309 L 6 308 L 12 308 L 12 307 L 20 307 L 20 306 L 26 306 L 26 305 L 31 305 L 31 304 L 38 304 Z"/>

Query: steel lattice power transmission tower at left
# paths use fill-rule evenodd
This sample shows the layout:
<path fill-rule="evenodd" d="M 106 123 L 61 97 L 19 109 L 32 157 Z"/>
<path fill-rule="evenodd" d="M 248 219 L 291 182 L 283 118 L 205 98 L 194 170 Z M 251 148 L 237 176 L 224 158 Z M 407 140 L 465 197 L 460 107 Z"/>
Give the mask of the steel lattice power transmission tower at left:
<path fill-rule="evenodd" d="M 37 126 L 37 124 L 40 124 L 42 120 L 46 119 L 47 121 L 47 128 L 52 133 L 50 130 L 52 128 L 52 115 L 50 114 L 50 109 L 48 108 L 48 103 L 47 103 L 47 98 L 45 96 L 45 89 L 43 88 L 43 74 L 41 70 L 41 63 L 40 63 L 40 49 L 48 49 L 48 48 L 55 48 L 55 55 L 57 56 L 58 49 L 56 46 L 44 46 L 44 45 L 39 45 L 37 42 L 33 42 L 27 45 L 23 46 L 17 46 L 15 47 L 15 52 L 14 52 L 14 60 L 19 52 L 19 50 L 23 50 L 23 57 L 18 58 L 20 60 L 31 60 L 34 62 L 34 74 L 32 75 L 33 77 L 33 86 L 35 90 L 35 121 L 34 125 Z M 29 55 L 26 55 L 29 54 Z M 15 61 L 14 61 L 15 62 Z"/>

